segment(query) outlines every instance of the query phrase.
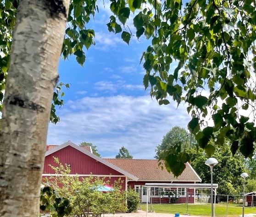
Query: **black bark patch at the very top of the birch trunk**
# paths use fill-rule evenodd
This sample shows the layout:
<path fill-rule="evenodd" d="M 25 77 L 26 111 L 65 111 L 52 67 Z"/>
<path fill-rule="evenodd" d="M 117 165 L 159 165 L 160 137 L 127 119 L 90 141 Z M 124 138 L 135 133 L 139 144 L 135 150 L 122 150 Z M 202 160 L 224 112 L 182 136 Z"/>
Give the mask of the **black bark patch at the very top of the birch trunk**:
<path fill-rule="evenodd" d="M 59 14 L 63 14 L 65 17 L 67 16 L 67 10 L 65 5 L 63 5 L 63 0 L 44 0 L 46 9 L 49 10 L 51 17 L 59 16 Z"/>

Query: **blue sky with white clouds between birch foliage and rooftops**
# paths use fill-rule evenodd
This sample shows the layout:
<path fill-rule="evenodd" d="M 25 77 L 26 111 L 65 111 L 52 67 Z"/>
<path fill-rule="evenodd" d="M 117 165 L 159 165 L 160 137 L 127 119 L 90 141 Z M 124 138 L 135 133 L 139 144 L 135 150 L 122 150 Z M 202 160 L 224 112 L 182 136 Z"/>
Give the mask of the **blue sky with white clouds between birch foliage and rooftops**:
<path fill-rule="evenodd" d="M 120 34 L 109 33 L 110 11 L 99 5 L 87 28 L 95 30 L 95 46 L 86 51 L 84 67 L 74 57 L 60 60 L 60 81 L 70 83 L 57 110 L 61 121 L 50 124 L 47 144 L 87 141 L 102 157 L 115 157 L 125 146 L 137 159 L 152 159 L 162 137 L 175 125 L 187 128 L 186 107 L 159 106 L 143 86 L 145 71 L 139 60 L 150 41 L 132 37 L 129 46 Z M 128 21 L 131 23 L 131 19 Z M 135 34 L 134 28 L 129 25 Z"/>

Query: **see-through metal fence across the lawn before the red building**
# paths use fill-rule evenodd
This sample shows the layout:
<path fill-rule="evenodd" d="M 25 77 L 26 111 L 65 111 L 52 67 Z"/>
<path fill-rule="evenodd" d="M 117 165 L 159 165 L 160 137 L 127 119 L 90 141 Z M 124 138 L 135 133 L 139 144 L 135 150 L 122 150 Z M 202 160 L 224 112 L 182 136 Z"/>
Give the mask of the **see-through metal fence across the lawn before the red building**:
<path fill-rule="evenodd" d="M 139 191 L 139 198 L 143 207 L 145 207 L 147 196 L 149 212 L 179 212 L 180 214 L 187 215 L 193 212 L 193 215 L 211 216 L 210 190 L 169 189 L 166 191 L 166 189 L 151 188 L 147 192 L 146 189 L 141 189 Z M 213 195 L 213 203 L 214 197 L 215 195 Z M 239 217 L 242 213 L 242 206 L 243 195 L 216 195 L 215 216 Z M 256 195 L 247 195 L 245 197 L 245 206 L 256 206 Z M 239 212 L 239 215 L 237 212 Z"/>

